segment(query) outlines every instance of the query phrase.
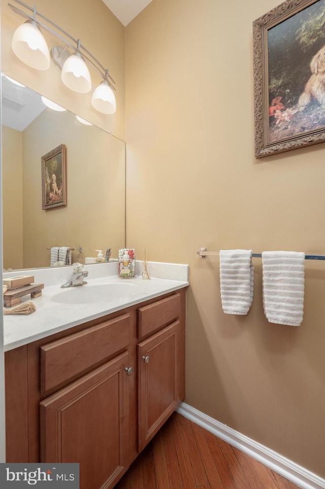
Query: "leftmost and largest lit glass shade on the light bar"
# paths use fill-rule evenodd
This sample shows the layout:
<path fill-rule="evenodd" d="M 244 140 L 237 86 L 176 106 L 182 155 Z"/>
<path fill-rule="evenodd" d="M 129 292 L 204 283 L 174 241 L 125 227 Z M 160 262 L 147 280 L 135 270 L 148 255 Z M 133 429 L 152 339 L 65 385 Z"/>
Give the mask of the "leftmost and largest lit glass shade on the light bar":
<path fill-rule="evenodd" d="M 11 47 L 16 56 L 31 68 L 36 70 L 49 68 L 49 49 L 36 22 L 27 20 L 19 25 L 12 38 Z"/>

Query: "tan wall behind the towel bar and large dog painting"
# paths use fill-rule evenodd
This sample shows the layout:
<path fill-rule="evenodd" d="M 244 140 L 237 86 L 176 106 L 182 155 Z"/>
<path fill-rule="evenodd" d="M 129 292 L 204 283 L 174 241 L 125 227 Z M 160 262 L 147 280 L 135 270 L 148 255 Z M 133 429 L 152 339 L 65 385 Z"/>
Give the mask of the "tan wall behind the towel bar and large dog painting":
<path fill-rule="evenodd" d="M 261 259 L 232 316 L 218 258 L 196 256 L 325 252 L 324 144 L 254 158 L 252 21 L 277 4 L 153 0 L 126 27 L 126 244 L 190 265 L 185 401 L 325 477 L 325 265 L 306 262 L 290 327 L 265 318 Z"/>

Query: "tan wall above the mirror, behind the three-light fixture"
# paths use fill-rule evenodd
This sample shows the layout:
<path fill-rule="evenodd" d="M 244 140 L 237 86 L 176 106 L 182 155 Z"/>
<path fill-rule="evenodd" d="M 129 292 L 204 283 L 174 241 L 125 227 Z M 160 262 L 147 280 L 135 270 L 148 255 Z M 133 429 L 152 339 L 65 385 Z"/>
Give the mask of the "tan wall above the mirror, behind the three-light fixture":
<path fill-rule="evenodd" d="M 24 8 L 21 10 L 26 11 Z M 1 5 L 2 70 L 12 78 L 124 140 L 125 47 L 123 25 L 102 0 L 91 0 L 91 2 L 89 0 L 69 0 L 69 2 L 66 0 L 55 0 L 55 2 L 39 0 L 37 10 L 75 39 L 80 38 L 81 44 L 105 68 L 109 69 L 116 82 L 118 110 L 113 115 L 105 115 L 92 108 L 91 96 L 102 78 L 91 67 L 89 68 L 92 79 L 91 91 L 88 94 L 77 94 L 63 85 L 60 72 L 52 62 L 50 68 L 45 71 L 30 69 L 22 63 L 10 46 L 15 29 L 24 22 L 24 18 L 14 13 L 8 7 L 8 2 Z M 62 46 L 62 42 L 44 30 L 43 35 L 50 50 L 52 46 Z"/>

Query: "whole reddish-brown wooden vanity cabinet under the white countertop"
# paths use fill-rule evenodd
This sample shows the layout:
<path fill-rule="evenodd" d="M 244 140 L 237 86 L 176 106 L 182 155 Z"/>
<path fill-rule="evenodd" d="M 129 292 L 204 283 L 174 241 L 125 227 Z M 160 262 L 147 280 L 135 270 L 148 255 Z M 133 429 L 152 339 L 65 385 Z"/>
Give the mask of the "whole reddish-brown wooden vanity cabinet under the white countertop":
<path fill-rule="evenodd" d="M 78 462 L 81 489 L 112 489 L 184 398 L 185 289 L 10 350 L 5 365 L 7 462 Z"/>

